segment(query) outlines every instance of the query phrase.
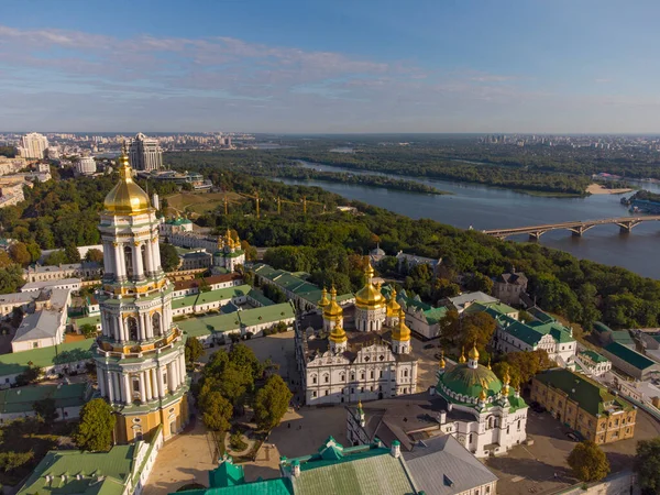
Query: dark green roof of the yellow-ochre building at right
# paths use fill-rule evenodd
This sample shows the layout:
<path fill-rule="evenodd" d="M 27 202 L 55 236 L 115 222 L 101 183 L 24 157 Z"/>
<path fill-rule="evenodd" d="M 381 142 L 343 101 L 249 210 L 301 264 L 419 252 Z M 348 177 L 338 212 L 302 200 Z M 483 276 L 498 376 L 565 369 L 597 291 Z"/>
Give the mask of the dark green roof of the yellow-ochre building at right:
<path fill-rule="evenodd" d="M 536 375 L 535 378 L 552 388 L 562 391 L 592 416 L 632 407 L 596 382 L 569 370 L 556 367 Z"/>

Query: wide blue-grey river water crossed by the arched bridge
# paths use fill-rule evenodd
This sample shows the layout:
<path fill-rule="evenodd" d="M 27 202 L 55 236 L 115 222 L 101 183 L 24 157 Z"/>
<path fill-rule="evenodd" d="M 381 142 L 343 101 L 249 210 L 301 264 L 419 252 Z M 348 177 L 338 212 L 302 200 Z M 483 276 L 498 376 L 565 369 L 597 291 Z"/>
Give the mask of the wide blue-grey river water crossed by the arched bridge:
<path fill-rule="evenodd" d="M 353 170 L 321 164 L 302 163 L 302 166 L 355 174 Z M 286 184 L 319 186 L 345 198 L 386 208 L 407 217 L 430 218 L 462 229 L 471 226 L 476 230 L 503 229 L 630 215 L 628 208 L 620 205 L 620 195 L 547 198 L 466 183 L 422 180 L 406 176 L 400 178 L 422 182 L 452 195 L 406 193 L 324 180 L 280 180 Z M 638 185 L 660 193 L 657 184 Z M 517 235 L 508 239 L 527 241 L 528 237 Z M 660 279 L 660 222 L 642 222 L 635 227 L 630 234 L 620 234 L 618 226 L 614 224 L 594 227 L 582 238 L 573 237 L 568 230 L 558 230 L 544 233 L 540 242 L 581 258 L 624 266 L 640 275 Z"/>

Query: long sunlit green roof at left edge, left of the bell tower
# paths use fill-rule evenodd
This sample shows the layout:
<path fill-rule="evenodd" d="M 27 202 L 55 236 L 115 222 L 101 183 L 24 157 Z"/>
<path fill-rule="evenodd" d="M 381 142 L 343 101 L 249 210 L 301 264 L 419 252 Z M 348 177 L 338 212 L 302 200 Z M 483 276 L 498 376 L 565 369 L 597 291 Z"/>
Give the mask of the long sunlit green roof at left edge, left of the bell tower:
<path fill-rule="evenodd" d="M 30 362 L 34 366 L 50 367 L 54 364 L 73 363 L 91 359 L 95 339 L 85 339 L 50 348 L 31 349 L 0 355 L 0 376 L 14 375 L 28 370 Z"/>

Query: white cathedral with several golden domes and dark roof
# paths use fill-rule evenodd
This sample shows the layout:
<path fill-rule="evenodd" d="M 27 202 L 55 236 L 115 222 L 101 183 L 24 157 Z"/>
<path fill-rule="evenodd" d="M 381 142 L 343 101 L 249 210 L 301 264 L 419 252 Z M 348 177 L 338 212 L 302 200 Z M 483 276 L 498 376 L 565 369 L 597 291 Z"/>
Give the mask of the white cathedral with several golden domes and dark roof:
<path fill-rule="evenodd" d="M 381 294 L 365 261 L 365 286 L 346 308 L 323 289 L 320 315 L 296 322 L 296 362 L 307 405 L 356 403 L 414 394 L 417 360 L 410 355 L 410 329 L 396 301 Z"/>

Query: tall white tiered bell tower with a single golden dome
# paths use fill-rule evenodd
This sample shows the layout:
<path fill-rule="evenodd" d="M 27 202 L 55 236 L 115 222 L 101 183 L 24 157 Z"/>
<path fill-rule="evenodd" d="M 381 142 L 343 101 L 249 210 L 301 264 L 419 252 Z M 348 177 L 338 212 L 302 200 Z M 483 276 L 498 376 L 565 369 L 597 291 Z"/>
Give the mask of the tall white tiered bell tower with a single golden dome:
<path fill-rule="evenodd" d="M 172 321 L 172 284 L 161 267 L 158 220 L 132 178 L 125 150 L 120 182 L 108 194 L 99 231 L 103 283 L 95 356 L 101 396 L 118 416 L 118 443 L 165 439 L 186 425 L 188 381 L 182 331 Z"/>

